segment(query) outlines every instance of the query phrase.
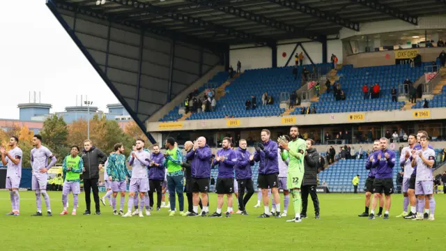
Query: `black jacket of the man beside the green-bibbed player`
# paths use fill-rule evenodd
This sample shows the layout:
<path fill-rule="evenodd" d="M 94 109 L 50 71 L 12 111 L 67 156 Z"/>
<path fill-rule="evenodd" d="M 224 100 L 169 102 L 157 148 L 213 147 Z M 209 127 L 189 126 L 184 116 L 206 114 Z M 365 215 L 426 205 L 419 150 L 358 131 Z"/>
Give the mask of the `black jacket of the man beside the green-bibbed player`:
<path fill-rule="evenodd" d="M 81 158 L 84 162 L 84 179 L 99 178 L 99 164 L 104 165 L 107 155 L 95 148 L 95 146 L 91 146 L 90 151 L 85 151 L 85 149 L 82 151 Z"/>

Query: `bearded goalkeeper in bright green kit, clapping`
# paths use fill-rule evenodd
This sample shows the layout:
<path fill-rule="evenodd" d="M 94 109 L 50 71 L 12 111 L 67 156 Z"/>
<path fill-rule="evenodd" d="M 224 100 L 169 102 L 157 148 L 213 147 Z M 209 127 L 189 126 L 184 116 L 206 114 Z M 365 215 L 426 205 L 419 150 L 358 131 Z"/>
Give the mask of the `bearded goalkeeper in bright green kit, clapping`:
<path fill-rule="evenodd" d="M 301 222 L 300 207 L 302 206 L 302 199 L 300 197 L 300 185 L 305 173 L 305 151 L 307 144 L 305 140 L 299 138 L 299 129 L 297 126 L 290 128 L 291 142 L 281 142 L 280 146 L 285 149 L 282 153 L 282 160 L 289 158 L 288 174 L 286 185 L 291 190 L 293 196 L 293 206 L 295 218 L 287 220 L 286 222 Z"/>

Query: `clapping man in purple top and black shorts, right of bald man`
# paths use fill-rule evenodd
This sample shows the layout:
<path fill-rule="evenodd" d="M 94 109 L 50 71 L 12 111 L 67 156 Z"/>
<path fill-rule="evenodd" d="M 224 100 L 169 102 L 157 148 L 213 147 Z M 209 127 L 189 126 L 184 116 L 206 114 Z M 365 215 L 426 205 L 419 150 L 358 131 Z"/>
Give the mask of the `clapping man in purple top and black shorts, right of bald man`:
<path fill-rule="evenodd" d="M 217 151 L 213 165 L 218 165 L 218 176 L 216 183 L 217 190 L 217 211 L 209 217 L 222 217 L 223 197 L 226 195 L 228 210 L 226 217 L 231 217 L 232 194 L 234 188 L 234 165 L 237 162 L 236 152 L 231 149 L 231 138 L 224 137 L 222 149 Z"/>

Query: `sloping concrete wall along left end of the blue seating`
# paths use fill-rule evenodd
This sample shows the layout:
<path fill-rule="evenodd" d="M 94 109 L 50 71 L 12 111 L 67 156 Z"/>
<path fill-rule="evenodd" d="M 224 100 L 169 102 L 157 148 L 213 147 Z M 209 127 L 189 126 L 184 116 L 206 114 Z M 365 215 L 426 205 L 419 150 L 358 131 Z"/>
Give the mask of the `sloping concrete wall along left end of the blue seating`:
<path fill-rule="evenodd" d="M 185 89 L 183 92 L 178 94 L 171 102 L 167 103 L 163 107 L 157 110 L 152 116 L 148 119 L 147 123 L 158 121 L 161 119 L 165 114 L 169 113 L 171 109 L 174 109 L 177 105 L 180 105 L 181 102 L 187 97 L 187 94 L 194 91 L 195 87 L 203 86 L 203 84 L 206 84 L 206 82 L 209 81 L 214 75 L 224 70 L 224 66 L 214 66 L 212 70 L 209 70 L 206 75 L 203 75 L 200 79 L 197 80 L 194 84 L 191 84 L 187 89 Z"/>

